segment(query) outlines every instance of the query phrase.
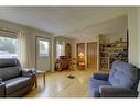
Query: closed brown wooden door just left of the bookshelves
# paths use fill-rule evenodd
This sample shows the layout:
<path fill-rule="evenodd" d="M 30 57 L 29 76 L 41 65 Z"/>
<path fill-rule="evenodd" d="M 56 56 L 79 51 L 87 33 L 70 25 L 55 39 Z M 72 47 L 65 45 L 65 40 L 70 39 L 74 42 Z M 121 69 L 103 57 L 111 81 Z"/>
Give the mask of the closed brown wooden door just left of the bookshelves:
<path fill-rule="evenodd" d="M 87 43 L 87 67 L 97 70 L 97 43 Z"/>

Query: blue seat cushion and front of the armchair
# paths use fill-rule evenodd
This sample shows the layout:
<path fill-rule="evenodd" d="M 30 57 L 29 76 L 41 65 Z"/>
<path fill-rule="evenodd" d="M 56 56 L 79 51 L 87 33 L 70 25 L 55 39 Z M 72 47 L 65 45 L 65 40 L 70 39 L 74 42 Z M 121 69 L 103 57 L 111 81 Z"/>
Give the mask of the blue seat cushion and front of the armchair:
<path fill-rule="evenodd" d="M 89 95 L 94 97 L 98 97 L 99 95 L 99 85 L 110 85 L 108 81 L 89 79 Z"/>

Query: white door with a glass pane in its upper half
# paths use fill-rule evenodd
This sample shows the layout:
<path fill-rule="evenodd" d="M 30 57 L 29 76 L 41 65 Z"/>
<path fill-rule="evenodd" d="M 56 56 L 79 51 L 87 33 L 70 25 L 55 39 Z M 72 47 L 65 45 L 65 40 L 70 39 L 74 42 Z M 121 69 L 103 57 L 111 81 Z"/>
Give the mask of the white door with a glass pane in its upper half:
<path fill-rule="evenodd" d="M 50 39 L 36 37 L 36 69 L 50 71 Z"/>

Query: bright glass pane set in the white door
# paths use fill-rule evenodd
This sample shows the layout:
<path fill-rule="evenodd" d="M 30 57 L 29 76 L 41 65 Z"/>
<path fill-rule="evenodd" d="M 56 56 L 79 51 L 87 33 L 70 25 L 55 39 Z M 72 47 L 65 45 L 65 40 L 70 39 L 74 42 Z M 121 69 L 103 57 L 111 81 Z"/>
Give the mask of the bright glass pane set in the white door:
<path fill-rule="evenodd" d="M 46 41 L 40 41 L 40 56 L 49 56 L 49 45 L 50 42 Z"/>

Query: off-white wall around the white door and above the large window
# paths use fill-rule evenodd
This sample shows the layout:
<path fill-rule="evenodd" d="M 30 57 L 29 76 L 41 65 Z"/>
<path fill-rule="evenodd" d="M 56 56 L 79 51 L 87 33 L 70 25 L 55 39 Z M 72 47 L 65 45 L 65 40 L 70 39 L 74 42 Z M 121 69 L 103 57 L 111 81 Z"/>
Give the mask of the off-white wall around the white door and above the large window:
<path fill-rule="evenodd" d="M 40 30 L 35 30 L 32 27 L 26 27 L 26 26 L 22 26 L 19 24 L 14 24 L 11 22 L 7 22 L 7 21 L 2 21 L 0 20 L 0 28 L 2 30 L 8 30 L 8 31 L 12 31 L 12 32 L 18 32 L 21 28 L 25 28 L 30 35 L 30 45 L 31 45 L 31 61 L 32 68 L 35 68 L 35 36 L 42 36 L 42 37 L 46 37 L 51 39 L 51 70 L 54 70 L 54 37 L 53 35 L 46 33 L 46 32 L 42 32 Z"/>

